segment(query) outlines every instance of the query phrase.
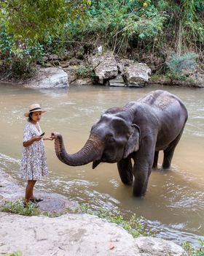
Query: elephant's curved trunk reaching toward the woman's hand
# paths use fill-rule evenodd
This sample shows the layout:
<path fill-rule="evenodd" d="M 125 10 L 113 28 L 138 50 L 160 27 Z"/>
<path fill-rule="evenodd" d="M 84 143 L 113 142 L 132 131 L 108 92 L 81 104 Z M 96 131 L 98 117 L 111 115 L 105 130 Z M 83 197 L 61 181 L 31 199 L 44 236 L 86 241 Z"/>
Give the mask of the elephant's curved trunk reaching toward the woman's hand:
<path fill-rule="evenodd" d="M 68 154 L 63 143 L 63 136 L 59 132 L 52 132 L 55 139 L 55 153 L 61 162 L 66 165 L 79 166 L 87 165 L 89 162 L 101 159 L 103 154 L 103 143 L 97 135 L 91 133 L 85 146 L 75 154 Z"/>

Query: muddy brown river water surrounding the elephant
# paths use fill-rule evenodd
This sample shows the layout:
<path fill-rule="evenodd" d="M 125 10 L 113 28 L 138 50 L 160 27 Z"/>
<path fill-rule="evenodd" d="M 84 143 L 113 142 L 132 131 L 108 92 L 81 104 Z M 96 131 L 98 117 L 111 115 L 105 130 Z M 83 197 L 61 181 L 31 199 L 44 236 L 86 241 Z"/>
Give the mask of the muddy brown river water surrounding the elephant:
<path fill-rule="evenodd" d="M 63 135 L 69 153 L 78 151 L 88 138 L 90 128 L 104 110 L 122 107 L 149 91 L 164 89 L 181 97 L 189 111 L 184 135 L 176 148 L 169 171 L 152 171 L 146 196 L 133 197 L 132 189 L 119 179 L 116 164 L 103 163 L 81 167 L 63 165 L 55 157 L 52 141 L 46 141 L 50 177 L 36 184 L 49 192 L 66 195 L 70 200 L 91 208 L 120 211 L 129 218 L 144 217 L 146 227 L 157 237 L 181 244 L 198 245 L 204 238 L 204 90 L 151 86 L 143 89 L 80 86 L 70 89 L 24 89 L 0 85 L 0 168 L 17 177 L 22 151 L 23 127 L 28 105 L 39 102 L 47 109 L 41 127 L 50 135 Z M 160 153 L 160 163 L 162 154 Z M 24 181 L 20 181 L 24 184 Z"/>

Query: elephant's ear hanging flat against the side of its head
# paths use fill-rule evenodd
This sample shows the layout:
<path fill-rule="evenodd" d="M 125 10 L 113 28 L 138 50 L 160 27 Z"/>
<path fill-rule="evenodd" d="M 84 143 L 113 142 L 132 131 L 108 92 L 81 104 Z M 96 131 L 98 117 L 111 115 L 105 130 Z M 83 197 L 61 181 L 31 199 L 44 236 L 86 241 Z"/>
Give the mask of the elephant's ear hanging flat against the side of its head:
<path fill-rule="evenodd" d="M 133 151 L 138 151 L 140 146 L 140 128 L 136 124 L 132 124 L 130 127 L 130 137 L 127 140 L 123 158 L 126 158 Z"/>

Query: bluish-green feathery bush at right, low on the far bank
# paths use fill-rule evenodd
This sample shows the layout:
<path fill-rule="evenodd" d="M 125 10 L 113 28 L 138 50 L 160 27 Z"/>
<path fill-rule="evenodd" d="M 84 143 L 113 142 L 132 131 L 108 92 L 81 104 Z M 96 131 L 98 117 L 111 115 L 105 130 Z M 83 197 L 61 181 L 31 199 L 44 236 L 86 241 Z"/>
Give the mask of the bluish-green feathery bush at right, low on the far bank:
<path fill-rule="evenodd" d="M 197 54 L 196 53 L 186 53 L 184 55 L 174 54 L 170 61 L 167 61 L 166 64 L 170 69 L 168 74 L 170 78 L 185 80 L 185 70 L 193 70 L 197 67 Z"/>

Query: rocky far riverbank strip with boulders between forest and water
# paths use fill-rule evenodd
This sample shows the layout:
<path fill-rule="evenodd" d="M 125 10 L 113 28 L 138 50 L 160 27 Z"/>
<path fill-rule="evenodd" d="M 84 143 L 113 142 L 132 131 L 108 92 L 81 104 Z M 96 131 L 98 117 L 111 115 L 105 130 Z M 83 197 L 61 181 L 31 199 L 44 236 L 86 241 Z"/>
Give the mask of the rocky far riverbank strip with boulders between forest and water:
<path fill-rule="evenodd" d="M 77 51 L 77 50 L 76 50 Z M 68 53 L 67 53 L 68 54 Z M 77 55 L 76 55 L 77 56 Z M 68 86 L 100 85 L 115 87 L 141 88 L 154 84 L 162 86 L 204 87 L 204 72 L 201 67 L 185 67 L 185 58 L 179 62 L 184 65 L 178 72 L 157 72 L 155 59 L 134 59 L 114 56 L 111 51 L 85 55 L 83 59 L 76 56 L 67 59 L 58 55 L 47 55 L 43 64 L 38 64 L 29 74 L 29 78 L 7 78 L 0 73 L 3 83 L 23 85 L 33 89 L 65 88 Z M 160 60 L 159 66 L 164 68 L 168 58 Z M 158 62 L 158 60 L 156 61 Z M 180 63 L 181 62 L 181 63 Z M 167 67 L 165 67 L 167 68 Z"/>

